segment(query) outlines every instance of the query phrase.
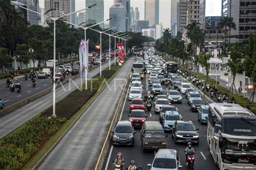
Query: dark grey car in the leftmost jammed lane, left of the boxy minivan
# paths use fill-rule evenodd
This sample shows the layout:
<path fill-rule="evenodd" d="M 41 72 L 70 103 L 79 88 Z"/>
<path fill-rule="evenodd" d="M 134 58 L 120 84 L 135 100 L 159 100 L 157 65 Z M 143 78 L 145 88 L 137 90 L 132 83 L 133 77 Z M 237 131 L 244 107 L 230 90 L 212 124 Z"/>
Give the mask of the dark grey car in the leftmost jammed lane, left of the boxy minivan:
<path fill-rule="evenodd" d="M 136 131 L 133 130 L 130 121 L 118 121 L 112 133 L 112 145 L 134 145 L 134 133 L 136 133 Z"/>

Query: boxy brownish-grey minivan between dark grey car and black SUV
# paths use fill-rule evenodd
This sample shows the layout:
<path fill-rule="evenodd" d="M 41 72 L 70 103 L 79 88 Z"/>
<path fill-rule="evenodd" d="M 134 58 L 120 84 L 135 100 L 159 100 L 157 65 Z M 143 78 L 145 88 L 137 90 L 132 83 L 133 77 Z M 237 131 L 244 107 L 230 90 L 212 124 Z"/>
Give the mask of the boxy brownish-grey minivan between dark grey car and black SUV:
<path fill-rule="evenodd" d="M 167 135 L 159 121 L 145 121 L 140 133 L 142 151 L 166 148 Z"/>

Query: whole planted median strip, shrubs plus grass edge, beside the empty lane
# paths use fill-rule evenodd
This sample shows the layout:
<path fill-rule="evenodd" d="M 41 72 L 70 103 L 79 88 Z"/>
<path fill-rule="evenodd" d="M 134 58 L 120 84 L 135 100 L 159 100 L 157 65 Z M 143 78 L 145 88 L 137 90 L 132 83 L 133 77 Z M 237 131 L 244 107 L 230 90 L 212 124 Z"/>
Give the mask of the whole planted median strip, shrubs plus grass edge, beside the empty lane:
<path fill-rule="evenodd" d="M 120 66 L 112 66 L 112 70 L 115 70 L 115 72 L 111 71 L 112 76 L 107 79 L 106 81 L 109 83 L 113 77 L 117 74 L 117 71 L 120 69 Z M 103 72 L 109 72 L 109 70 L 104 70 Z M 105 73 L 107 74 L 107 73 Z M 50 111 L 50 108 L 47 108 L 42 113 L 39 113 L 36 117 L 30 119 L 28 122 L 23 124 L 22 126 L 18 127 L 15 131 L 11 132 L 10 134 L 6 135 L 3 139 L 0 140 L 0 169 L 21 169 L 23 166 L 23 169 L 31 169 L 33 166 L 37 164 L 37 162 L 49 151 L 49 149 L 58 141 L 58 139 L 68 130 L 70 125 L 77 120 L 79 115 L 83 113 L 83 111 L 87 108 L 87 106 L 93 101 L 100 92 L 105 88 L 106 84 L 101 84 L 99 81 L 103 81 L 104 78 L 100 78 L 97 80 L 94 80 L 93 82 L 93 91 L 94 93 L 90 94 L 89 97 L 87 97 L 87 100 L 83 100 L 84 103 L 80 103 L 81 108 L 77 107 L 73 110 L 68 110 L 68 113 L 65 114 L 57 114 L 58 117 L 55 119 L 51 119 L 53 121 L 50 121 L 47 117 L 43 115 L 48 115 Z M 74 93 L 77 93 L 78 90 L 75 90 Z M 83 91 L 82 91 L 83 92 Z M 72 92 L 73 93 L 73 92 Z M 62 112 L 65 112 L 64 108 L 69 108 L 72 106 L 75 106 L 77 103 L 77 99 L 73 101 L 69 101 L 70 105 L 67 105 L 66 100 L 69 100 L 70 95 L 72 96 L 72 93 L 70 93 L 67 97 L 63 98 L 56 104 L 56 108 L 62 108 Z M 85 96 L 83 96 L 85 97 Z M 64 103 L 63 103 L 64 102 Z M 68 113 L 68 114 L 67 114 Z M 60 119 L 60 120 L 58 120 Z M 37 121 L 38 125 L 42 124 L 44 125 L 45 122 L 47 123 L 50 121 L 50 127 L 54 127 L 53 129 L 46 128 L 46 130 L 50 131 L 51 133 L 47 133 L 48 131 L 45 131 L 45 128 L 35 127 L 31 126 L 31 122 Z M 48 120 L 48 121 L 46 121 Z M 39 123 L 38 123 L 39 122 Z M 32 124 L 35 125 L 35 124 Z M 47 127 L 47 126 L 46 126 Z M 56 129 L 56 127 L 58 127 Z M 27 132 L 28 128 L 31 130 L 30 133 Z M 33 129 L 37 128 L 39 129 L 36 133 L 34 133 Z M 30 138 L 28 138 L 28 134 L 30 134 Z M 40 135 L 38 135 L 40 134 Z M 49 135 L 50 134 L 50 135 Z M 36 138 L 36 139 L 34 139 Z M 25 140 L 26 139 L 26 140 Z M 21 143 L 19 145 L 15 145 L 18 140 Z M 9 144 L 8 142 L 9 141 Z M 30 152 L 28 152 L 30 151 Z M 11 157 L 10 157 L 11 153 Z M 6 157 L 8 155 L 9 157 Z M 11 159 L 11 160 L 10 160 Z"/>

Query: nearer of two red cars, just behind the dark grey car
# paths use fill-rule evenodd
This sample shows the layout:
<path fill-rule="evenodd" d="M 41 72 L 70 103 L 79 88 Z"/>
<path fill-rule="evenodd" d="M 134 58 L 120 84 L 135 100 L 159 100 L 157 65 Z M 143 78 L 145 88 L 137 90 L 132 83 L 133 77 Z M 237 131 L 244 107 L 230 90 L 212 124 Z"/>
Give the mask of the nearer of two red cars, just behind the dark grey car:
<path fill-rule="evenodd" d="M 129 120 L 133 127 L 142 127 L 147 120 L 147 115 L 144 110 L 134 109 L 128 114 Z"/>

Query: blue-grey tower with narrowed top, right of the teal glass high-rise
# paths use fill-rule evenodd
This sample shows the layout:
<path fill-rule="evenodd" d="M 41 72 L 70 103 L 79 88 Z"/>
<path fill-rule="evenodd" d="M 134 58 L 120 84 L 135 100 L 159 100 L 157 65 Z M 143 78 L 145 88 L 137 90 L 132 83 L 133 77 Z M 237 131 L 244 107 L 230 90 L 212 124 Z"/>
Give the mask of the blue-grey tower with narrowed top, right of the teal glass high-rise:
<path fill-rule="evenodd" d="M 125 31 L 126 30 L 126 8 L 122 5 L 122 0 L 116 0 L 114 4 L 109 9 L 109 17 L 112 18 L 109 21 L 109 27 L 113 28 L 115 31 Z"/>

